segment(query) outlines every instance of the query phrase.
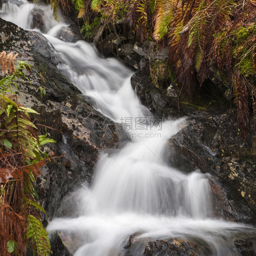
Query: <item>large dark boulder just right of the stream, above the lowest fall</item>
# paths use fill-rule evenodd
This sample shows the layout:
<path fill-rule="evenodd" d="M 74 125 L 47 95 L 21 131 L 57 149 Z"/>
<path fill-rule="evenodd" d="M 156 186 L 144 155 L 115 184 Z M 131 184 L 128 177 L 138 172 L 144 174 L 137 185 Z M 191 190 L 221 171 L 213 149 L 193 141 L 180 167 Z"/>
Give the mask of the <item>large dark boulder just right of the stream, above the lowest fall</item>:
<path fill-rule="evenodd" d="M 200 168 L 211 174 L 218 174 L 224 152 L 228 154 L 232 145 L 243 145 L 234 110 L 221 115 L 195 112 L 170 143 L 172 165 L 188 172 Z"/>

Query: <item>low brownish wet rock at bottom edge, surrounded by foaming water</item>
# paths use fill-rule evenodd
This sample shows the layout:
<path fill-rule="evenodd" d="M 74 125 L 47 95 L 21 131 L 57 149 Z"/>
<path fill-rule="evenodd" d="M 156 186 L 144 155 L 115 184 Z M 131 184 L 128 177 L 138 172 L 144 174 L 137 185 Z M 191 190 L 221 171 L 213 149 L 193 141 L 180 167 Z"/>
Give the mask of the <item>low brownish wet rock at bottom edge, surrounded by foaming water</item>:
<path fill-rule="evenodd" d="M 177 238 L 151 241 L 145 248 L 146 256 L 202 256 L 212 255 L 207 246 L 199 246 L 192 241 L 182 241 Z"/>

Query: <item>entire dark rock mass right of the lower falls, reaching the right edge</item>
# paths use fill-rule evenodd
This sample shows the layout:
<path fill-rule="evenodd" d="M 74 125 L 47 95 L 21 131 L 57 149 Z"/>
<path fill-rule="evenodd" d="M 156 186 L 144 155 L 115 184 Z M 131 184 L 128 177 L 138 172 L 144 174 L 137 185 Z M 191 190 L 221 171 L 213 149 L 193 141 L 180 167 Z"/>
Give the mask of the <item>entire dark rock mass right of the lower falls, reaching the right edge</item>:
<path fill-rule="evenodd" d="M 210 185 L 215 191 L 213 196 L 217 196 L 214 215 L 224 214 L 228 220 L 256 223 L 255 150 L 241 140 L 236 111 L 228 110 L 221 115 L 196 112 L 169 142 L 171 165 L 187 172 L 199 168 L 218 175 L 222 192 L 215 182 Z M 254 137 L 252 144 L 255 144 Z M 223 213 L 218 209 L 223 209 Z"/>

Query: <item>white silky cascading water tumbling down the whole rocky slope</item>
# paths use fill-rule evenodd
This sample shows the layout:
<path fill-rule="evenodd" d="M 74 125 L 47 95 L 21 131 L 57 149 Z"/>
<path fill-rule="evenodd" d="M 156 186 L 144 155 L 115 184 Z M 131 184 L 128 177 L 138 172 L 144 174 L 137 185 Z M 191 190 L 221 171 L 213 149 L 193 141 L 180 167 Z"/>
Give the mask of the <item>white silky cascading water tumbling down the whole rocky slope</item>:
<path fill-rule="evenodd" d="M 159 238 L 199 240 L 209 246 L 211 255 L 240 255 L 233 240 L 255 231 L 213 218 L 210 175 L 183 174 L 165 163 L 168 138 L 184 119 L 154 125 L 154 117 L 131 88 L 132 73 L 113 58 L 103 59 L 88 43 L 55 38 L 67 24 L 61 14 L 60 23 L 54 21 L 48 5 L 15 0 L 4 3 L 0 14 L 34 29 L 35 9 L 44 12 L 43 32 L 54 47 L 58 68 L 90 96 L 97 110 L 117 123 L 123 120 L 123 127 L 129 128 L 123 134 L 130 136 L 122 149 L 102 153 L 93 185 L 84 185 L 73 195 L 78 205 L 75 216 L 54 219 L 48 230 L 72 238 L 69 249 L 74 255 L 125 255 L 124 245 L 134 233 L 139 246 L 130 255 L 143 255 L 146 243 Z M 136 120 L 148 124 L 138 131 Z"/>

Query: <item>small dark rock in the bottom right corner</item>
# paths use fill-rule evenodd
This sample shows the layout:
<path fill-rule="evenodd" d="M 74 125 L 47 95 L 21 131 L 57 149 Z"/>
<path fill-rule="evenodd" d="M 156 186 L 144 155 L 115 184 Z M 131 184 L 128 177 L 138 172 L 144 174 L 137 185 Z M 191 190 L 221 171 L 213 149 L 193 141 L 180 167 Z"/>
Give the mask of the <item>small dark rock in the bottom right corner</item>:
<path fill-rule="evenodd" d="M 236 239 L 234 243 L 242 256 L 256 255 L 256 236 Z"/>

